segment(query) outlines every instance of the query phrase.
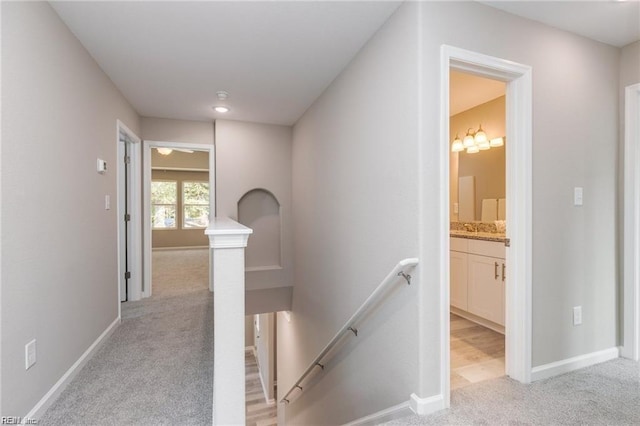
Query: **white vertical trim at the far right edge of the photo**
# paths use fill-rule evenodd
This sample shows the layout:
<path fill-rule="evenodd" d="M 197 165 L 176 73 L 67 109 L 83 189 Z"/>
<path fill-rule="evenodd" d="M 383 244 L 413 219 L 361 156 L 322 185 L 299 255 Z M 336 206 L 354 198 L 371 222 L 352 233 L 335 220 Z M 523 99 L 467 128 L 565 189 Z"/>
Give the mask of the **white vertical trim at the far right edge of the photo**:
<path fill-rule="evenodd" d="M 625 89 L 622 356 L 640 360 L 640 84 Z"/>

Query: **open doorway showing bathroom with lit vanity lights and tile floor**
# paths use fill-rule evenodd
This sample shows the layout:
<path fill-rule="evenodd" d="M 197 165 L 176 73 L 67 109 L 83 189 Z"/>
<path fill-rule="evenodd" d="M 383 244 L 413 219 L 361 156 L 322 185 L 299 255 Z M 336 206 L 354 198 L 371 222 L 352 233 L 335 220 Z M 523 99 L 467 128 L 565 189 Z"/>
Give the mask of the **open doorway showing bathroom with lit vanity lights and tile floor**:
<path fill-rule="evenodd" d="M 506 84 L 449 74 L 451 389 L 505 375 Z"/>

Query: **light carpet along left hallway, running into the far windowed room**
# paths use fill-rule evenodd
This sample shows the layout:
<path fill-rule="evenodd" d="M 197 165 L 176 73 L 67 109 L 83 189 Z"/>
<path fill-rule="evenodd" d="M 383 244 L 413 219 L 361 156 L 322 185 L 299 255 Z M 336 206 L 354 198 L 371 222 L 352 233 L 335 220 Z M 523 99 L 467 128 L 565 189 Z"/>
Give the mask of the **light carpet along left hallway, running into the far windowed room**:
<path fill-rule="evenodd" d="M 122 324 L 38 424 L 211 424 L 207 251 L 156 252 L 154 264 L 153 297 L 123 304 Z"/>

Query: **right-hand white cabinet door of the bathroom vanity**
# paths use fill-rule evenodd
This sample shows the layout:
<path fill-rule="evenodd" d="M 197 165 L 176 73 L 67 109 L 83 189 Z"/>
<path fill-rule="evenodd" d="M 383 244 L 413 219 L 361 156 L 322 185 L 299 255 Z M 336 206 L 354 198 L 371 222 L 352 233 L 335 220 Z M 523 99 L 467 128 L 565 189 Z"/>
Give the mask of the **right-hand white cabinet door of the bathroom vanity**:
<path fill-rule="evenodd" d="M 468 311 L 504 325 L 504 259 L 468 255 Z"/>

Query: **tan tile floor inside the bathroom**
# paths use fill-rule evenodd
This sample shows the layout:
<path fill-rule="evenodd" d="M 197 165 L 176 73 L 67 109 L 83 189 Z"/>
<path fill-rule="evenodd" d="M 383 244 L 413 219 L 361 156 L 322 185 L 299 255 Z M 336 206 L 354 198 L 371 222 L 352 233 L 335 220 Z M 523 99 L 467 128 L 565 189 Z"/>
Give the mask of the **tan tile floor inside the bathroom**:
<path fill-rule="evenodd" d="M 450 315 L 451 389 L 504 376 L 504 336 Z"/>

